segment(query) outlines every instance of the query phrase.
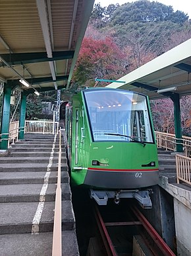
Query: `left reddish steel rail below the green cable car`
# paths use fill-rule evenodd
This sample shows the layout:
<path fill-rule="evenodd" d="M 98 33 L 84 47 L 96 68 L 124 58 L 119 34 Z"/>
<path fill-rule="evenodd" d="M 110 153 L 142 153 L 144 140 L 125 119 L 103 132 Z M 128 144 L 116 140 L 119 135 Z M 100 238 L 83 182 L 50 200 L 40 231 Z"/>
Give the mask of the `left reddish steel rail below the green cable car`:
<path fill-rule="evenodd" d="M 99 228 L 99 232 L 101 233 L 101 237 L 103 239 L 103 243 L 104 243 L 105 249 L 107 251 L 107 255 L 108 256 L 117 256 L 115 248 L 113 247 L 113 243 L 112 243 L 112 241 L 109 237 L 109 234 L 107 232 L 107 228 L 105 227 L 103 219 L 101 218 L 101 214 L 99 213 L 99 210 L 96 205 L 95 205 L 94 214 L 95 214 L 95 219 L 97 221 L 97 225 Z"/>

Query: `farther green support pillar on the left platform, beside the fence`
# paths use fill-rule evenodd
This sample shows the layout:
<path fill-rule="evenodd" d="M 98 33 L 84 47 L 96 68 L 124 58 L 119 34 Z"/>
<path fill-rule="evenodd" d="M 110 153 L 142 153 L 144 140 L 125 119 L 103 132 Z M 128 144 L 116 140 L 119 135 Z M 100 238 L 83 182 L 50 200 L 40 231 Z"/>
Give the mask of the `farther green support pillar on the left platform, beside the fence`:
<path fill-rule="evenodd" d="M 19 118 L 19 128 L 20 132 L 18 134 L 18 139 L 24 139 L 24 125 L 25 125 L 25 116 L 26 116 L 26 93 L 21 94 L 20 101 L 20 118 Z"/>

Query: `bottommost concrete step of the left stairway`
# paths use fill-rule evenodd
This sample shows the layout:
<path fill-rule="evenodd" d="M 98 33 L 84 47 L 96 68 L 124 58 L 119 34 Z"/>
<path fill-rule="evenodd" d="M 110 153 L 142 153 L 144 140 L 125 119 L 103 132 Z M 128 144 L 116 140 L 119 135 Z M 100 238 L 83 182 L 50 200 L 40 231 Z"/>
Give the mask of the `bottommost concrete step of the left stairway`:
<path fill-rule="evenodd" d="M 53 232 L 34 234 L 0 235 L 3 256 L 51 256 Z M 35 245 L 35 246 L 34 246 Z M 74 230 L 62 232 L 63 256 L 78 256 L 78 243 Z M 26 250 L 27 248 L 27 250 Z"/>

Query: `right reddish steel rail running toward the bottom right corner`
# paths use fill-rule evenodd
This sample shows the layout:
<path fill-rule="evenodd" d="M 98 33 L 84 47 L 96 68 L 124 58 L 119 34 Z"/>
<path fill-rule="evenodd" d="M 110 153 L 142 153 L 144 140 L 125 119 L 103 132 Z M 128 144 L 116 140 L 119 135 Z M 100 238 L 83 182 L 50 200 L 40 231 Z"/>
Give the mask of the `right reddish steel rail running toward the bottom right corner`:
<path fill-rule="evenodd" d="M 148 222 L 148 220 L 146 220 L 145 216 L 138 210 L 138 208 L 136 208 L 134 206 L 134 207 L 131 207 L 131 210 L 132 210 L 132 212 L 134 212 L 134 214 L 137 216 L 137 218 L 140 220 L 140 222 L 142 222 L 142 225 L 144 226 L 144 228 L 146 229 L 148 234 L 150 234 L 153 241 L 155 241 L 155 243 L 157 244 L 159 249 L 162 251 L 162 253 L 165 256 L 175 256 L 175 253 L 173 253 L 171 248 L 169 248 L 167 243 L 165 243 L 165 241 L 156 232 L 156 230 L 153 228 L 153 226 L 151 226 L 151 224 Z"/>

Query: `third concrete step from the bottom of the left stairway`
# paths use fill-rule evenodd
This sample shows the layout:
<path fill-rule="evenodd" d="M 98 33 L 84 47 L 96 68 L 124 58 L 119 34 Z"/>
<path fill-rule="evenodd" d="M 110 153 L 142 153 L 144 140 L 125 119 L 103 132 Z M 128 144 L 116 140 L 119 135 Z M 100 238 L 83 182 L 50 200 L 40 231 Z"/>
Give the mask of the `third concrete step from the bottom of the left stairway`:
<path fill-rule="evenodd" d="M 0 203 L 9 202 L 39 202 L 43 184 L 18 184 L 0 186 Z M 57 185 L 49 184 L 45 191 L 45 201 L 55 201 Z M 70 187 L 67 183 L 62 185 L 62 197 L 70 200 Z M 0 217 L 1 218 L 1 217 Z"/>

